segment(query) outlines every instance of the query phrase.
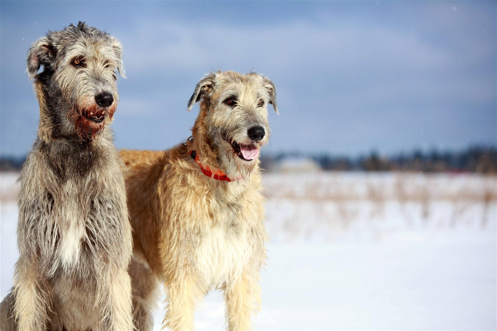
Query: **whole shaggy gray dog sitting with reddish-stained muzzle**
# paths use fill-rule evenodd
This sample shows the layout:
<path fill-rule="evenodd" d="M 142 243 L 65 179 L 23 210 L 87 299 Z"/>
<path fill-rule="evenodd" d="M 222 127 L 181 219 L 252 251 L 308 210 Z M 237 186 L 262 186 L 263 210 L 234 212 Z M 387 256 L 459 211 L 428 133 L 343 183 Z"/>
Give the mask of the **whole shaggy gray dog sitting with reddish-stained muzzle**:
<path fill-rule="evenodd" d="M 116 70 L 124 76 L 120 42 L 83 22 L 27 54 L 40 125 L 19 177 L 20 257 L 2 330 L 133 329 L 124 165 L 108 125 Z"/>

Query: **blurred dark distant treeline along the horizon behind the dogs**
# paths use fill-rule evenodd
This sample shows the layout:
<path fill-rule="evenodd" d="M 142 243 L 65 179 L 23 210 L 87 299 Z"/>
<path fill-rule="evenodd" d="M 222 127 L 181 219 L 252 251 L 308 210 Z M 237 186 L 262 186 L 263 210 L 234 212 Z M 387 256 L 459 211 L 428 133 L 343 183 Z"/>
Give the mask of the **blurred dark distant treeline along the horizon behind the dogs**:
<path fill-rule="evenodd" d="M 284 160 L 312 159 L 323 170 L 497 173 L 497 148 L 473 146 L 462 151 L 415 150 L 390 157 L 372 151 L 359 157 L 302 152 L 262 153 L 261 166 L 272 170 Z M 26 157 L 0 157 L 0 171 L 18 171 Z"/>

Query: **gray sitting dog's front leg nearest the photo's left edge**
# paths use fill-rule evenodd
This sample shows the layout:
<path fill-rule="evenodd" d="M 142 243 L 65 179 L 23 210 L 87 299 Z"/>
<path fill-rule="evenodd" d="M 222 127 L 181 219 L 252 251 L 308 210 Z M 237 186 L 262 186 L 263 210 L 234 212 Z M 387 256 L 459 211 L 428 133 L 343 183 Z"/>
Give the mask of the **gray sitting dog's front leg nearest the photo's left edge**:
<path fill-rule="evenodd" d="M 18 330 L 47 330 L 52 291 L 36 263 L 19 260 L 14 276 L 14 316 Z"/>

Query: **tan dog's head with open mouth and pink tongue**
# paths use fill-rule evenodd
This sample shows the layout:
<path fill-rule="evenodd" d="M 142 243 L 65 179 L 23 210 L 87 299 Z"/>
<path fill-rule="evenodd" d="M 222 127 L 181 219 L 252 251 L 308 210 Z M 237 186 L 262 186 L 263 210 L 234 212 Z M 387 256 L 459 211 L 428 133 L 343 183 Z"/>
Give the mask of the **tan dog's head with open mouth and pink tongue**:
<path fill-rule="evenodd" d="M 254 167 L 260 147 L 269 140 L 267 105 L 278 112 L 274 84 L 254 72 L 210 72 L 196 85 L 188 111 L 200 100 L 194 138 L 207 141 L 228 175 L 246 175 Z"/>

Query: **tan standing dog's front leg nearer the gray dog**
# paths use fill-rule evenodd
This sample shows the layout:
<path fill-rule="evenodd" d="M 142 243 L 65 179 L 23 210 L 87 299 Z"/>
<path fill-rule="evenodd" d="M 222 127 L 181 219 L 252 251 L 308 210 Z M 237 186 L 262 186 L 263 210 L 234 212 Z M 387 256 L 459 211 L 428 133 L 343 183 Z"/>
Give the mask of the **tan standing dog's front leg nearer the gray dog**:
<path fill-rule="evenodd" d="M 186 277 L 166 283 L 167 312 L 164 327 L 170 330 L 194 330 L 193 310 L 197 298 L 202 295 L 195 282 Z"/>

